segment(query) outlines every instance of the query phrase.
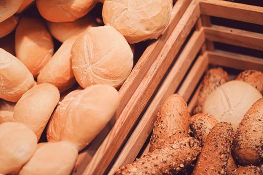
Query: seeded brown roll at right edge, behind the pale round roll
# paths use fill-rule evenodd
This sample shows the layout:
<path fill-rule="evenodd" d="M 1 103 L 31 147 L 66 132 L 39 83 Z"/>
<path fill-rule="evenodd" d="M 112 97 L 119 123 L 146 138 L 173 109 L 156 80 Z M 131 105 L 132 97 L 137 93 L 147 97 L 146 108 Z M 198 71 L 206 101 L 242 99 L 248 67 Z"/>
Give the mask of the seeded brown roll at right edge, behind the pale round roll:
<path fill-rule="evenodd" d="M 239 73 L 236 80 L 245 81 L 263 94 L 263 73 L 258 70 L 245 70 Z"/>

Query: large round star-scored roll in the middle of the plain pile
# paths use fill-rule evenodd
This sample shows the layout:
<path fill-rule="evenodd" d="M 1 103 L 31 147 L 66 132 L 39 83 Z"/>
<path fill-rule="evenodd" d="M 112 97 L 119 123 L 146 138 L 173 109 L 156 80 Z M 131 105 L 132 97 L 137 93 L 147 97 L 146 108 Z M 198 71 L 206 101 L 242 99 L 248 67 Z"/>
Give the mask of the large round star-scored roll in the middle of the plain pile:
<path fill-rule="evenodd" d="M 71 59 L 76 80 L 83 88 L 93 84 L 119 87 L 133 66 L 130 45 L 112 26 L 92 27 L 78 37 Z"/>

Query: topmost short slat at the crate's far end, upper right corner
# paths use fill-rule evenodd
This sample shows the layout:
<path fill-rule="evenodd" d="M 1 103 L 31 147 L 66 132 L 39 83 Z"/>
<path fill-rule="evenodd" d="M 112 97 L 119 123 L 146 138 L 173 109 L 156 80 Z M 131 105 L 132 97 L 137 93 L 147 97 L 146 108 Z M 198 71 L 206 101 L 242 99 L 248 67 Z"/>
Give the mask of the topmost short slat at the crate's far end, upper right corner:
<path fill-rule="evenodd" d="M 263 25 L 263 7 L 225 0 L 200 0 L 202 14 Z"/>

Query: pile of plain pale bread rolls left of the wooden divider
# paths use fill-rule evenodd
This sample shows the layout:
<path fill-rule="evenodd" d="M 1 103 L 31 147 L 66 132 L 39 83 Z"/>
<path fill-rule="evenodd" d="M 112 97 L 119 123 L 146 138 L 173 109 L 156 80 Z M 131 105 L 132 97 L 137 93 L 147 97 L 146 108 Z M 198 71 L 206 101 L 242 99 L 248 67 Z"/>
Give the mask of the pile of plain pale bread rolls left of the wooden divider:
<path fill-rule="evenodd" d="M 99 2 L 103 26 L 89 13 Z M 159 37 L 171 9 L 172 0 L 1 0 L 0 174 L 70 174 L 119 105 L 132 44 Z M 197 140 L 182 142 L 198 152 Z"/>

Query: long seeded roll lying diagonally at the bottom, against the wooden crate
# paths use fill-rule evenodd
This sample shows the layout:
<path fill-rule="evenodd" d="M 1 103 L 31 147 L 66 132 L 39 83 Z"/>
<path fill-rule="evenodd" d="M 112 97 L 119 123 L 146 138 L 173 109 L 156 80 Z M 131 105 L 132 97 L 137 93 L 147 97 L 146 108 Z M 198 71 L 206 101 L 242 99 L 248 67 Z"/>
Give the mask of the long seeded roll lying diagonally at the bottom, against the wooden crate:
<path fill-rule="evenodd" d="M 115 175 L 174 174 L 189 166 L 200 152 L 199 141 L 185 137 L 120 167 Z"/>

